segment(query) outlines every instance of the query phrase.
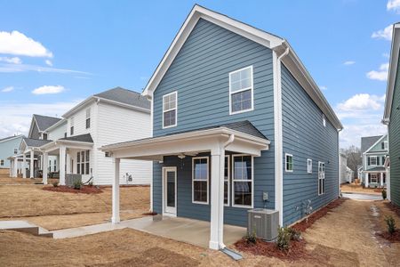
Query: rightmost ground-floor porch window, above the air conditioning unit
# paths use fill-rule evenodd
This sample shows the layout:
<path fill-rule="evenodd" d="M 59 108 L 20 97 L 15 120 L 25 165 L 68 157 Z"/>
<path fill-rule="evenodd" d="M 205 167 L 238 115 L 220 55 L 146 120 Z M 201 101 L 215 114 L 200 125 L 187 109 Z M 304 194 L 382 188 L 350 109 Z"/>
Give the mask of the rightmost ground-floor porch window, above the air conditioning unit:
<path fill-rule="evenodd" d="M 233 155 L 233 205 L 252 207 L 252 156 Z"/>

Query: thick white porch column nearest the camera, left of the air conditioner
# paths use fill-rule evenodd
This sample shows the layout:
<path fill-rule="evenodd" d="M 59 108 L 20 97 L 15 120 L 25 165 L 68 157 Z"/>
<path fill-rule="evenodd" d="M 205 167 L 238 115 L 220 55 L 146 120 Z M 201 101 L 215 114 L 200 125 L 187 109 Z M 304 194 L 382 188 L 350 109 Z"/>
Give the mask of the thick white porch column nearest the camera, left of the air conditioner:
<path fill-rule="evenodd" d="M 210 243 L 212 249 L 224 248 L 224 160 L 225 151 L 219 144 L 212 150 Z"/>

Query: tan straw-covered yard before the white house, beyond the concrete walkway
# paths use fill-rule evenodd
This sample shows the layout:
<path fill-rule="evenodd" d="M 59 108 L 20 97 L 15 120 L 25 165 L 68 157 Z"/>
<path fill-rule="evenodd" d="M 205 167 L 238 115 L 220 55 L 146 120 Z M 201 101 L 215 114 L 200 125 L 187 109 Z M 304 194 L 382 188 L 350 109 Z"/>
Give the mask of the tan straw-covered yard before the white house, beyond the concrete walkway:
<path fill-rule="evenodd" d="M 57 230 L 104 223 L 111 216 L 111 188 L 100 194 L 76 194 L 43 187 L 0 184 L 0 220 L 27 220 Z M 122 187 L 120 197 L 122 220 L 140 217 L 149 210 L 149 187 Z"/>

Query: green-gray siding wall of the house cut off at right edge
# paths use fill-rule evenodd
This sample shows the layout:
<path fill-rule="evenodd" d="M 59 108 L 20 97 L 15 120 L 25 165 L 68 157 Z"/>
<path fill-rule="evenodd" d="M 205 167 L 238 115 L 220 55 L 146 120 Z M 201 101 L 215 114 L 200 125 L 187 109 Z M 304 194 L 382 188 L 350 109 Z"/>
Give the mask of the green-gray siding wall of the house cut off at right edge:
<path fill-rule="evenodd" d="M 397 66 L 395 93 L 393 95 L 392 112 L 388 127 L 390 156 L 390 198 L 400 206 L 400 68 Z"/>

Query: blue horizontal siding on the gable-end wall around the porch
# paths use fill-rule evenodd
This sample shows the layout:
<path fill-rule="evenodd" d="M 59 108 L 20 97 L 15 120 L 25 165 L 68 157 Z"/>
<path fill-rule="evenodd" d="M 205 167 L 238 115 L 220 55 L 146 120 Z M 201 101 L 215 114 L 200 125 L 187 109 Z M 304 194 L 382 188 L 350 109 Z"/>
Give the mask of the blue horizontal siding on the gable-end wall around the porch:
<path fill-rule="evenodd" d="M 229 116 L 228 73 L 253 66 L 254 110 Z M 178 125 L 162 128 L 162 98 L 178 91 Z M 204 126 L 248 119 L 271 140 L 271 148 L 254 158 L 254 206 L 264 206 L 262 192 L 268 191 L 274 208 L 274 108 L 272 52 L 243 36 L 199 20 L 180 53 L 172 62 L 154 94 L 154 136 L 179 133 Z M 187 159 L 188 160 L 188 159 Z M 177 164 L 164 161 L 167 164 Z M 185 166 L 190 166 L 191 162 Z M 161 212 L 161 170 L 154 166 L 154 209 Z M 210 206 L 191 203 L 191 173 L 178 165 L 178 215 L 208 220 Z M 190 194 L 188 198 L 187 194 Z M 226 208 L 226 223 L 245 225 L 244 208 Z"/>

